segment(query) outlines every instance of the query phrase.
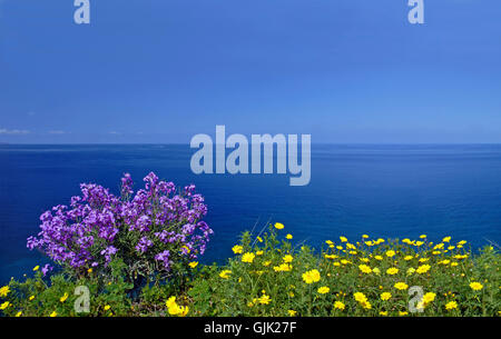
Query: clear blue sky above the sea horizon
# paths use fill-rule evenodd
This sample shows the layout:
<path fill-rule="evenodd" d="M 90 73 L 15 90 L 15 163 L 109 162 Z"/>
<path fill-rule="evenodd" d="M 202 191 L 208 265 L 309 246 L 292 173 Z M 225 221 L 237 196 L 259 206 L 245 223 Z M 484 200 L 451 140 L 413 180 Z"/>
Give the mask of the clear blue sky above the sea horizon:
<path fill-rule="evenodd" d="M 501 142 L 501 1 L 0 0 L 0 142 Z"/>

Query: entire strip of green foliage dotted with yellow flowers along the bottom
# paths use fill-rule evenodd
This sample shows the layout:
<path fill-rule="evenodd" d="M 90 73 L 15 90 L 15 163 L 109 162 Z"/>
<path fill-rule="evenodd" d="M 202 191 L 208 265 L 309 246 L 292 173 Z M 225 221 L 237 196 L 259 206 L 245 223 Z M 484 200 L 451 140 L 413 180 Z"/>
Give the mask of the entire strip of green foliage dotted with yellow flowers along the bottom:
<path fill-rule="evenodd" d="M 47 279 L 37 270 L 1 288 L 0 308 L 9 317 L 500 316 L 501 255 L 492 247 L 473 255 L 449 237 L 435 245 L 425 236 L 363 236 L 354 243 L 327 240 L 315 251 L 283 232 L 274 226 L 257 237 L 244 232 L 225 266 L 183 265 L 169 279 L 140 287 L 127 282 L 121 260 L 107 275 L 89 270 L 82 278 Z M 89 312 L 76 311 L 80 286 L 89 290 Z M 424 296 L 414 297 L 412 287 Z"/>

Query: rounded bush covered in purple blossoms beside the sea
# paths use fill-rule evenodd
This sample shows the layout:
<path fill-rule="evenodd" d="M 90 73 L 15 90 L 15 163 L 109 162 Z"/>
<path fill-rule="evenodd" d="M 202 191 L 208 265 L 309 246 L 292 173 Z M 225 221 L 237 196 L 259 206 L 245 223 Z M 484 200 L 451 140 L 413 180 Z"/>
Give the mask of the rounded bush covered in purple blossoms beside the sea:
<path fill-rule="evenodd" d="M 132 190 L 129 175 L 120 197 L 95 183 L 82 183 L 81 196 L 41 215 L 40 232 L 28 238 L 76 277 L 106 275 L 111 260 L 121 260 L 130 279 L 181 276 L 203 255 L 213 230 L 195 186 L 176 189 L 150 172 L 145 187 Z"/>

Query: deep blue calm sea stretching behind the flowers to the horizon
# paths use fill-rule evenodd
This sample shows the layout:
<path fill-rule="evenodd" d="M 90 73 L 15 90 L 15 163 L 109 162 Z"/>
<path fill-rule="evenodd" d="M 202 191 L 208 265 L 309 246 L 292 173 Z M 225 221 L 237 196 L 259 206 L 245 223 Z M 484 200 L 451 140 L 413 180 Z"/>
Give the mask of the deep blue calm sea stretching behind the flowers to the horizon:
<path fill-rule="evenodd" d="M 138 186 L 155 171 L 178 186 L 195 183 L 215 230 L 202 261 L 223 262 L 244 230 L 268 220 L 296 243 L 321 247 L 356 238 L 452 236 L 477 249 L 501 241 L 501 144 L 340 146 L 312 148 L 312 180 L 288 175 L 191 173 L 188 146 L 0 146 L 0 283 L 49 262 L 29 251 L 39 216 L 96 182 L 118 193 L 124 172 Z"/>

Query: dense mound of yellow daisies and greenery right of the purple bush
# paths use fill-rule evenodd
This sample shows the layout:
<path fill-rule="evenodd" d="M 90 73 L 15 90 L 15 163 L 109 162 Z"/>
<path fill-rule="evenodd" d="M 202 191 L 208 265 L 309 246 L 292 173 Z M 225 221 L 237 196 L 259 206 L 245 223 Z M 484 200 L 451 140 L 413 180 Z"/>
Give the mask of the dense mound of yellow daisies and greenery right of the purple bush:
<path fill-rule="evenodd" d="M 284 229 L 277 222 L 267 232 L 245 232 L 226 266 L 193 283 L 191 313 L 501 315 L 492 302 L 501 297 L 501 256 L 492 247 L 473 256 L 466 241 L 452 243 L 451 237 L 434 243 L 425 235 L 416 240 L 370 240 L 363 235 L 355 241 L 343 236 L 337 243 L 326 240 L 327 247 L 316 255 L 307 246 L 292 243 L 295 237 L 281 235 Z M 262 298 L 255 297 L 258 291 Z M 411 299 L 416 292 L 421 297 Z"/>

